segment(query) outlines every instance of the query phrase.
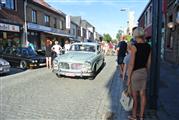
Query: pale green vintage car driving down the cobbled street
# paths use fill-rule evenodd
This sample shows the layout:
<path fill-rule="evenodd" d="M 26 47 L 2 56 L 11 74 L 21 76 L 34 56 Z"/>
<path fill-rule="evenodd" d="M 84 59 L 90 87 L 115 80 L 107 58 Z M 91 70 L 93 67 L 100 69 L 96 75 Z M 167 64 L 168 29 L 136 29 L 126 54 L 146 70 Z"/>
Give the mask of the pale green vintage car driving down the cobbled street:
<path fill-rule="evenodd" d="M 70 50 L 53 60 L 57 77 L 88 77 L 93 80 L 104 64 L 104 55 L 98 43 L 74 43 Z"/>

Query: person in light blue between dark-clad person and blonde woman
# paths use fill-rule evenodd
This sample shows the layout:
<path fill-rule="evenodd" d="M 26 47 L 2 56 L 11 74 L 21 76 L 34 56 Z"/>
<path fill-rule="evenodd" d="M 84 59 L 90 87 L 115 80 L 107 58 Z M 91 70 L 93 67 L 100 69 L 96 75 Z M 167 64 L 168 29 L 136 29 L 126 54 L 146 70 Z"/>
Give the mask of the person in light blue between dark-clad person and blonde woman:
<path fill-rule="evenodd" d="M 128 67 L 129 67 L 129 62 L 130 62 L 130 57 L 131 57 L 131 43 L 129 42 L 127 44 L 127 55 L 124 57 L 124 70 L 123 70 L 123 75 L 122 79 L 125 80 L 128 76 Z"/>

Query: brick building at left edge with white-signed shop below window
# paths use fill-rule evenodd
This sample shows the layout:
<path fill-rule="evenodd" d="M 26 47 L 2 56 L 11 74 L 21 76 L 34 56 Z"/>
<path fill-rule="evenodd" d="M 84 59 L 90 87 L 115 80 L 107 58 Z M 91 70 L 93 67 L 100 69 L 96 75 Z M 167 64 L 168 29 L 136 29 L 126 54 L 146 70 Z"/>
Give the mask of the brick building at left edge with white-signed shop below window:
<path fill-rule="evenodd" d="M 22 0 L 0 1 L 0 51 L 6 47 L 20 47 L 23 38 L 23 6 Z"/>

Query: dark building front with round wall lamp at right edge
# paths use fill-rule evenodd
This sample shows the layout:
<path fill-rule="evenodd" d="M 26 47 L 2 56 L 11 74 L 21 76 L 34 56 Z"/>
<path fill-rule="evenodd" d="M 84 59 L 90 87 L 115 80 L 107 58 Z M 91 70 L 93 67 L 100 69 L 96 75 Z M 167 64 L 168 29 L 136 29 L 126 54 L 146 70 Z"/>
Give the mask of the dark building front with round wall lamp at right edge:
<path fill-rule="evenodd" d="M 164 59 L 179 64 L 179 0 L 166 0 Z"/>

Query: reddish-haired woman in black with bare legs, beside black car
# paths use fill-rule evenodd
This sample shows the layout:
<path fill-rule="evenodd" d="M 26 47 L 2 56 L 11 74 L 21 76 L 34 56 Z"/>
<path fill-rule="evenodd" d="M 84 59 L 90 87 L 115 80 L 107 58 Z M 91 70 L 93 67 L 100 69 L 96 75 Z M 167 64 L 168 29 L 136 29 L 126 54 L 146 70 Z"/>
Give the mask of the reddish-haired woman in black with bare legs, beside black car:
<path fill-rule="evenodd" d="M 46 40 L 46 51 L 45 51 L 45 57 L 46 57 L 46 66 L 47 68 L 52 68 L 52 41 L 47 38 Z"/>

